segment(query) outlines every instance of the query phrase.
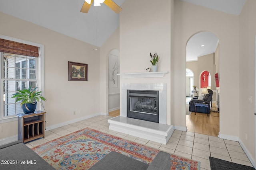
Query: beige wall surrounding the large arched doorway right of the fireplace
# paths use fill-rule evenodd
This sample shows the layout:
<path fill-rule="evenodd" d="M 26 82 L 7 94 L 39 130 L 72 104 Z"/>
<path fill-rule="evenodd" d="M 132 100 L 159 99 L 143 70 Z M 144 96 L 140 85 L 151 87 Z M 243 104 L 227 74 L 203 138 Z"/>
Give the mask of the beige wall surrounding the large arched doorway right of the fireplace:
<path fill-rule="evenodd" d="M 185 126 L 186 43 L 200 31 L 211 31 L 220 41 L 220 135 L 238 140 L 239 85 L 234 84 L 238 72 L 238 16 L 175 0 L 174 24 L 174 95 L 175 125 Z M 230 63 L 232 61 L 232 63 Z M 230 74 L 232 73 L 232 74 Z M 230 100 L 232 99 L 232 100 Z M 184 106 L 184 107 L 181 107 Z M 236 109 L 230 110 L 230 108 Z M 179 116 L 179 117 L 178 117 Z M 176 119 L 177 118 L 177 119 Z"/>

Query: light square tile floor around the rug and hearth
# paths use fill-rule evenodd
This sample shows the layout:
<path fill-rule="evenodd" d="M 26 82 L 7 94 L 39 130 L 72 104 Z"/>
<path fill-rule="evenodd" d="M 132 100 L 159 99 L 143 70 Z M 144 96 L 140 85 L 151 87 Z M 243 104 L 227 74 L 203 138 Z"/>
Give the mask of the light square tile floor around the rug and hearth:
<path fill-rule="evenodd" d="M 166 145 L 148 141 L 132 135 L 112 131 L 108 129 L 108 119 L 112 117 L 99 115 L 90 119 L 58 127 L 45 132 L 45 138 L 30 141 L 26 145 L 30 148 L 42 145 L 64 135 L 68 135 L 80 129 L 89 127 L 98 131 L 118 136 L 126 140 L 134 141 L 148 147 L 164 150 L 170 154 L 176 154 L 185 158 L 200 161 L 201 170 L 210 170 L 209 156 L 223 160 L 252 166 L 244 150 L 238 142 L 220 139 L 199 133 L 175 130 Z"/>

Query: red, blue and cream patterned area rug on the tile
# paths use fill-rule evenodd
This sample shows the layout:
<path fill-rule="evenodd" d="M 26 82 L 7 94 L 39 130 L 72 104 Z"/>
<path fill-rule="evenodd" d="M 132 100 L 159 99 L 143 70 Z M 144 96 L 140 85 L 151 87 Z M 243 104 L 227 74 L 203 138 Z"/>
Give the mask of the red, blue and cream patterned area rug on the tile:
<path fill-rule="evenodd" d="M 85 128 L 32 148 L 54 168 L 88 169 L 111 151 L 150 164 L 159 152 L 120 137 Z M 200 162 L 171 155 L 171 170 L 198 170 Z"/>

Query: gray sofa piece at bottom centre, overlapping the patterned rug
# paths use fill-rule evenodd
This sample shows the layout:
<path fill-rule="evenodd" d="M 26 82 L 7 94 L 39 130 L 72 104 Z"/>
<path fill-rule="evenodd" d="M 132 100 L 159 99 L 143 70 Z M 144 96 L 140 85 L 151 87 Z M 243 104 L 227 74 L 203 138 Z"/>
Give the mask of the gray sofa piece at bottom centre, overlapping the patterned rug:
<path fill-rule="evenodd" d="M 160 151 L 148 165 L 118 152 L 110 152 L 89 170 L 170 170 L 170 154 Z"/>

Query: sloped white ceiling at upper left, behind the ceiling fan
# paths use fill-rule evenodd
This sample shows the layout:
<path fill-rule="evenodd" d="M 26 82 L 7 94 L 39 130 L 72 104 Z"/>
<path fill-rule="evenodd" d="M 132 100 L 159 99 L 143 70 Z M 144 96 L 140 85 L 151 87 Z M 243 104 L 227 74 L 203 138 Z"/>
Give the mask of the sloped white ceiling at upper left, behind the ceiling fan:
<path fill-rule="evenodd" d="M 113 1 L 118 6 L 124 2 Z M 82 13 L 83 4 L 84 0 L 0 0 L 0 12 L 100 47 L 119 26 L 119 14 L 105 4 Z"/>

